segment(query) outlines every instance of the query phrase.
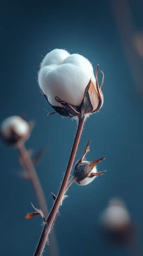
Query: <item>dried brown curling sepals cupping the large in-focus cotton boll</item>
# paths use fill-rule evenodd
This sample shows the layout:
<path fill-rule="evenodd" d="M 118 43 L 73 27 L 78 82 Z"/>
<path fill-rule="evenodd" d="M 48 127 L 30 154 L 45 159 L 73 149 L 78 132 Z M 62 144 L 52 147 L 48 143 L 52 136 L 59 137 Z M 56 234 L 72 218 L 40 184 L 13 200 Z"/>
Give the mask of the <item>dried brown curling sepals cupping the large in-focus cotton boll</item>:
<path fill-rule="evenodd" d="M 96 88 L 95 88 L 94 83 L 90 79 L 90 81 L 84 91 L 84 98 L 81 101 L 81 104 L 79 106 L 73 106 L 72 104 L 70 104 L 66 101 L 63 101 L 62 99 L 59 99 L 59 97 L 55 97 L 55 100 L 58 103 L 60 103 L 62 105 L 62 107 L 51 105 L 51 103 L 48 101 L 48 97 L 42 92 L 44 97 L 48 101 L 48 103 L 55 110 L 55 112 L 57 112 L 59 115 L 62 115 L 64 117 L 75 117 L 78 115 L 86 115 L 86 114 L 96 113 L 100 110 L 100 108 L 103 105 L 103 93 L 101 91 L 101 87 L 102 87 L 103 81 L 104 81 L 104 74 L 101 70 L 99 70 L 102 73 L 102 81 L 101 81 L 101 85 L 99 87 L 98 68 L 99 68 L 99 65 L 97 65 L 97 69 L 95 72 Z M 98 106 L 97 106 L 97 97 L 99 100 Z M 48 115 L 55 114 L 55 112 L 51 112 Z"/>

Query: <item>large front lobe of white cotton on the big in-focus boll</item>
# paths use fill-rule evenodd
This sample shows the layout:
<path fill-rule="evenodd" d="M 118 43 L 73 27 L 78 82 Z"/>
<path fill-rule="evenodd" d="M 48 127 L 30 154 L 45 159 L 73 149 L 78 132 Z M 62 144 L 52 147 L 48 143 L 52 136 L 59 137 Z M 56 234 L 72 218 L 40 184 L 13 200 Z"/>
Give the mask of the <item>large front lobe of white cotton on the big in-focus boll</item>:
<path fill-rule="evenodd" d="M 48 71 L 44 76 L 42 90 L 48 96 L 51 105 L 60 106 L 55 97 L 59 97 L 74 106 L 79 106 L 90 76 L 73 64 L 63 64 Z M 99 99 L 97 97 L 97 106 Z"/>

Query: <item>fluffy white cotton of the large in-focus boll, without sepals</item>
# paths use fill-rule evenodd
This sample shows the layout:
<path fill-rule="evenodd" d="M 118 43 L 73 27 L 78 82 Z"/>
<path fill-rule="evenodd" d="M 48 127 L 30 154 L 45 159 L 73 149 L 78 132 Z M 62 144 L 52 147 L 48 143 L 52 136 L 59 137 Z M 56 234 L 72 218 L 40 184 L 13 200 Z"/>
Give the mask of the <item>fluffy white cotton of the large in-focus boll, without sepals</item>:
<path fill-rule="evenodd" d="M 93 67 L 87 58 L 79 54 L 69 54 L 64 49 L 49 52 L 41 63 L 38 81 L 42 92 L 51 106 L 61 106 L 58 97 L 73 106 L 79 106 L 90 79 L 95 85 Z M 99 105 L 96 92 L 95 108 Z"/>

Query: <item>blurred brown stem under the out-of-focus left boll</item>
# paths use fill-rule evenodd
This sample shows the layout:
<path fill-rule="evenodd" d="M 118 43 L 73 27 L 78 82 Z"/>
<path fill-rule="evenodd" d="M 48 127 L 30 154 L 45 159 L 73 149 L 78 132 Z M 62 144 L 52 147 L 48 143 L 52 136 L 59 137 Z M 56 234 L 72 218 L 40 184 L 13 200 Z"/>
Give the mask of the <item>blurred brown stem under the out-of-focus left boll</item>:
<path fill-rule="evenodd" d="M 46 205 L 46 200 L 45 200 L 45 197 L 44 197 L 42 186 L 41 186 L 40 181 L 37 177 L 37 173 L 36 173 L 35 167 L 33 165 L 33 162 L 31 160 L 31 158 L 29 156 L 29 153 L 27 152 L 24 144 L 18 143 L 17 144 L 17 149 L 20 153 L 20 157 L 22 159 L 24 168 L 26 169 L 27 173 L 29 174 L 30 182 L 31 182 L 31 184 L 33 186 L 33 189 L 35 191 L 35 195 L 36 195 L 39 207 L 42 210 L 42 212 L 44 213 L 44 216 L 47 218 L 48 208 L 47 208 L 47 205 Z M 57 241 L 56 241 L 54 231 L 51 233 L 51 247 L 49 248 L 49 255 L 50 256 L 58 256 L 59 255 Z"/>

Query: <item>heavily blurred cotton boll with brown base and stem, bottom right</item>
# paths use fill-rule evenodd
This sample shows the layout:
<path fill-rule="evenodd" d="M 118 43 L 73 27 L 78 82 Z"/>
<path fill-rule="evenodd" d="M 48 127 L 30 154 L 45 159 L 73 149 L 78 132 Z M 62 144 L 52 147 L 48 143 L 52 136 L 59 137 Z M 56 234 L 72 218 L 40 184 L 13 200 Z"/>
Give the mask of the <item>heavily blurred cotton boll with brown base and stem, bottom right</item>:
<path fill-rule="evenodd" d="M 125 248 L 130 255 L 142 255 L 141 246 L 136 243 L 138 238 L 138 228 L 125 205 L 119 198 L 111 198 L 108 206 L 100 215 L 100 227 L 105 240 L 112 246 Z M 139 253 L 140 252 L 140 253 Z"/>

